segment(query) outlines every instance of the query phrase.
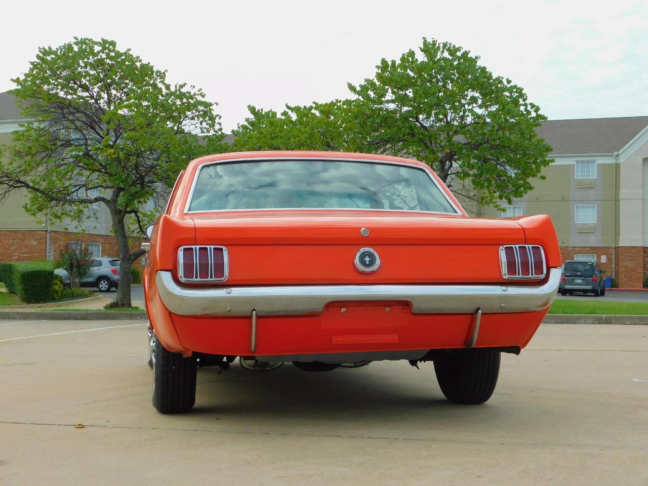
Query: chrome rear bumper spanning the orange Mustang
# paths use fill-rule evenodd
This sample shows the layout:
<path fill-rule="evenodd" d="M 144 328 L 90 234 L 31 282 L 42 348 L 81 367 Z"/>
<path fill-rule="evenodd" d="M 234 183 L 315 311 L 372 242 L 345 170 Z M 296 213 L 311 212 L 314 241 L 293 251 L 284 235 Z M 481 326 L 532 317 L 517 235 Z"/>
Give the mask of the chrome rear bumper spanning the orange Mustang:
<path fill-rule="evenodd" d="M 538 286 L 502 284 L 273 285 L 187 288 L 157 272 L 164 305 L 180 316 L 294 316 L 318 314 L 335 301 L 407 301 L 415 314 L 535 312 L 551 305 L 561 281 L 551 268 Z"/>

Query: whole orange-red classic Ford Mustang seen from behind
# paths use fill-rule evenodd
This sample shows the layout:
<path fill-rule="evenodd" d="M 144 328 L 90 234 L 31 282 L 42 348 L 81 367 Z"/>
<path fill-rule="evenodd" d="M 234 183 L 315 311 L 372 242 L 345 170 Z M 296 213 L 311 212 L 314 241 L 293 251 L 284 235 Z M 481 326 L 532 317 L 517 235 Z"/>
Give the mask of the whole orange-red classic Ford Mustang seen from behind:
<path fill-rule="evenodd" d="M 192 408 L 196 368 L 434 362 L 488 400 L 555 297 L 549 216 L 471 218 L 424 163 L 342 152 L 196 159 L 150 229 L 153 405 Z"/>

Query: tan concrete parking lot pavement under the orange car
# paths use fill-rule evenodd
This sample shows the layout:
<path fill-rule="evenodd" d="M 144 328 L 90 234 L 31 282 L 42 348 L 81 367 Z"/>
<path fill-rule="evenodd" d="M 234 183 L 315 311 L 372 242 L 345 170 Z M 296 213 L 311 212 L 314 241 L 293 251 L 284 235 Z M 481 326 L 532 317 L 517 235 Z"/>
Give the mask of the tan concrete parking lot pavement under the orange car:
<path fill-rule="evenodd" d="M 0 321 L 0 483 L 648 484 L 645 326 L 542 325 L 480 406 L 432 364 L 235 363 L 176 416 L 150 405 L 145 341 L 142 321 Z"/>

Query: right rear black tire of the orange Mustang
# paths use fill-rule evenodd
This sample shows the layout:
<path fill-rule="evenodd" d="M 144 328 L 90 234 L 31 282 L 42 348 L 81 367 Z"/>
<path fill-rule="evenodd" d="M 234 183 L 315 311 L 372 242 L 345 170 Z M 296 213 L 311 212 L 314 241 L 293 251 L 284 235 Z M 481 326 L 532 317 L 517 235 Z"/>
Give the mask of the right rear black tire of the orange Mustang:
<path fill-rule="evenodd" d="M 446 399 L 478 404 L 491 398 L 500 374 L 500 351 L 466 349 L 434 361 L 434 371 Z"/>

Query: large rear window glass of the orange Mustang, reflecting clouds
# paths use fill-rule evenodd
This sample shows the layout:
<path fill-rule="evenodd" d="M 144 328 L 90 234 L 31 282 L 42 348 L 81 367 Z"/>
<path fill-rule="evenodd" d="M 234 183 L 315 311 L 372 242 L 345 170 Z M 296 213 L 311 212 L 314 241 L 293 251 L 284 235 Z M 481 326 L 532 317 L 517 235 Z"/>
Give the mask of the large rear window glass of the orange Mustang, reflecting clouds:
<path fill-rule="evenodd" d="M 452 213 L 422 169 L 371 162 L 290 160 L 216 163 L 200 170 L 189 211 L 389 209 Z"/>

